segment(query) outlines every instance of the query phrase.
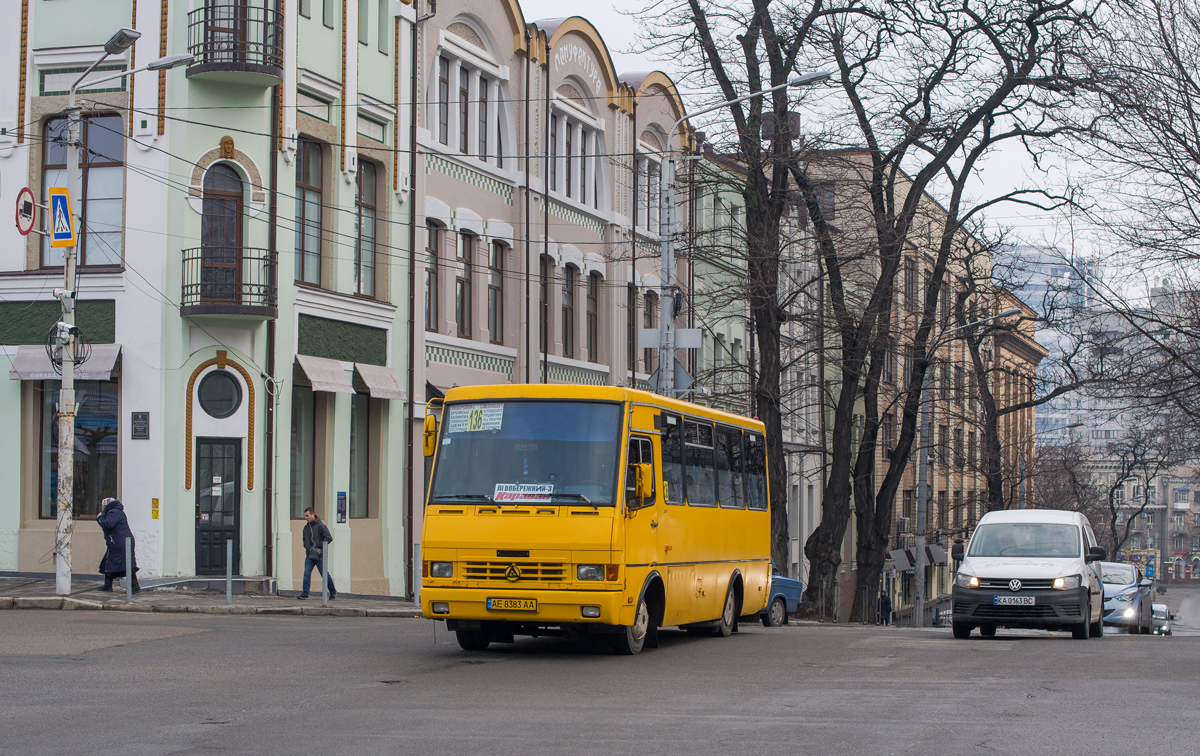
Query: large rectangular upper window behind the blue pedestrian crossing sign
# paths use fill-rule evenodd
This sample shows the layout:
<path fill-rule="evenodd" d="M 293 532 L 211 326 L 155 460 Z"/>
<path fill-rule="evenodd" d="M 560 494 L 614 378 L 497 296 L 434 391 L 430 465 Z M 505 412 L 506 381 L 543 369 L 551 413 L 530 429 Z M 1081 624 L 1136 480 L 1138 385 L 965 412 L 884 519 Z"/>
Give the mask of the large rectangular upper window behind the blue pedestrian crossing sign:
<path fill-rule="evenodd" d="M 42 144 L 42 198 L 49 204 L 48 188 L 67 185 L 68 121 L 46 122 Z M 120 115 L 90 115 L 79 122 L 79 185 L 72 193 L 83 197 L 82 217 L 76 229 L 79 265 L 120 265 L 125 241 L 125 125 Z M 71 198 L 72 203 L 76 198 Z M 64 263 L 64 247 L 42 241 L 42 265 Z"/>

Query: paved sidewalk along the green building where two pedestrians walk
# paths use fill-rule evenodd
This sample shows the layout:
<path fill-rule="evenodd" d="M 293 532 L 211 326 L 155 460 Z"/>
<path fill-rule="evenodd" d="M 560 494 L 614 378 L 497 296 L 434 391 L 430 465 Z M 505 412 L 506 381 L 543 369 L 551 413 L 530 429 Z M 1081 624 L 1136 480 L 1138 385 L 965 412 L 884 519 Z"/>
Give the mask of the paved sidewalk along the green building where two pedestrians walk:
<path fill-rule="evenodd" d="M 395 596 L 365 596 L 338 593 L 329 606 L 320 605 L 320 594 L 307 600 L 289 595 L 238 594 L 226 604 L 224 592 L 187 590 L 172 583 L 180 578 L 148 578 L 133 602 L 125 601 L 125 588 L 113 586 L 113 593 L 100 590 L 100 581 L 73 578 L 70 596 L 54 593 L 53 577 L 0 577 L 0 610 L 109 610 L 116 612 L 174 612 L 197 614 L 302 614 L 306 617 L 420 617 L 412 601 Z M 317 583 L 320 584 L 319 581 Z"/>

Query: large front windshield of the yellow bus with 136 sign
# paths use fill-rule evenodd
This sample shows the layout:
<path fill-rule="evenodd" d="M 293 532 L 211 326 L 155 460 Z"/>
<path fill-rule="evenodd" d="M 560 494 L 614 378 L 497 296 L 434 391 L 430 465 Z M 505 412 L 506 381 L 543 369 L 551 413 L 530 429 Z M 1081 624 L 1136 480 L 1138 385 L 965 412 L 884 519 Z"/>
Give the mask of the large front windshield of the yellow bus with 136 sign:
<path fill-rule="evenodd" d="M 620 404 L 446 404 L 430 502 L 614 504 Z"/>

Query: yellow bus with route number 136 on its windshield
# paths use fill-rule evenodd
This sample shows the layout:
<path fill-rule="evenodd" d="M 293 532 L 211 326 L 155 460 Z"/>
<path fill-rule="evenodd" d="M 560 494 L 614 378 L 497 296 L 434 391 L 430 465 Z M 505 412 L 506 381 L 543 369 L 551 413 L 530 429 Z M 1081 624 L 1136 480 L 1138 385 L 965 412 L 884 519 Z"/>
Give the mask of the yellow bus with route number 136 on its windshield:
<path fill-rule="evenodd" d="M 446 392 L 433 456 L 421 611 L 458 644 L 658 629 L 727 636 L 766 607 L 770 514 L 763 426 L 611 386 Z"/>

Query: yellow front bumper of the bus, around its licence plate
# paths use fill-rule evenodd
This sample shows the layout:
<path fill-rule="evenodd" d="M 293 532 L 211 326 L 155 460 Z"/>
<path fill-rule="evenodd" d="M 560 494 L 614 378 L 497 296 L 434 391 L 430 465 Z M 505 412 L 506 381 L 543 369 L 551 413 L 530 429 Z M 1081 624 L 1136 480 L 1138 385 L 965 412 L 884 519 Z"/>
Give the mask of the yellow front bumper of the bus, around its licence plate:
<path fill-rule="evenodd" d="M 488 608 L 496 599 L 536 601 L 536 610 Z M 492 600 L 490 602 L 490 600 Z M 434 604 L 438 606 L 434 611 Z M 588 613 L 599 616 L 587 617 Z M 504 622 L 530 626 L 576 624 L 631 625 L 634 606 L 626 606 L 624 590 L 512 590 L 498 588 L 421 588 L 421 614 L 427 619 Z"/>

